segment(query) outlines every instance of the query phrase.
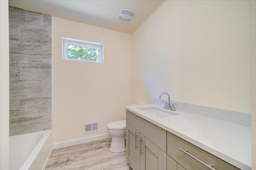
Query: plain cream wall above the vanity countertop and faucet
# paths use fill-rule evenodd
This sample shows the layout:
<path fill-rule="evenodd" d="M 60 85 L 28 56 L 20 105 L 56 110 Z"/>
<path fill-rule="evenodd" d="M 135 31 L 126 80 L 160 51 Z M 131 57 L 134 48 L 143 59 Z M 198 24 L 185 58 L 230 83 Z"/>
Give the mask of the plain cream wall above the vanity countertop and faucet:
<path fill-rule="evenodd" d="M 132 103 L 250 113 L 250 1 L 165 1 L 132 34 Z"/>

